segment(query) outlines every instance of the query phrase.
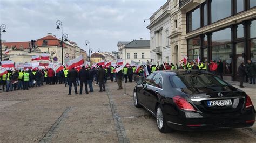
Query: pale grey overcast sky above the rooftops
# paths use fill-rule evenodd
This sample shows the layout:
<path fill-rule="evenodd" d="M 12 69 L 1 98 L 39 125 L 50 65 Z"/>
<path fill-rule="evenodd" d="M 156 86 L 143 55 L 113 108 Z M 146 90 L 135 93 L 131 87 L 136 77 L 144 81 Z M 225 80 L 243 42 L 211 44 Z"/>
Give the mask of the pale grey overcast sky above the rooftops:
<path fill-rule="evenodd" d="M 30 41 L 48 32 L 61 37 L 56 21 L 63 23 L 69 40 L 87 51 L 117 51 L 118 41 L 147 39 L 149 19 L 166 0 L 0 0 L 2 40 Z"/>

